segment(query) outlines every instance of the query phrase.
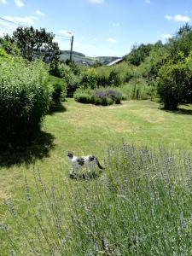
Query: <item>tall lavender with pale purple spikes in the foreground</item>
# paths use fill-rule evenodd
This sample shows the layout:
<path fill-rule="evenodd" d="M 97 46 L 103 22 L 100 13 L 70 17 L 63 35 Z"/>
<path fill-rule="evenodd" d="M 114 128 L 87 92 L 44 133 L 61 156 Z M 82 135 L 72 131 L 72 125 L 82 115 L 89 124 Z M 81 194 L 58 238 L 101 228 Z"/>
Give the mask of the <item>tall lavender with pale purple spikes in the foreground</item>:
<path fill-rule="evenodd" d="M 65 178 L 63 189 L 34 169 L 32 212 L 20 219 L 8 203 L 25 234 L 4 227 L 15 255 L 191 255 L 191 152 L 121 143 L 105 166 L 96 180 Z"/>

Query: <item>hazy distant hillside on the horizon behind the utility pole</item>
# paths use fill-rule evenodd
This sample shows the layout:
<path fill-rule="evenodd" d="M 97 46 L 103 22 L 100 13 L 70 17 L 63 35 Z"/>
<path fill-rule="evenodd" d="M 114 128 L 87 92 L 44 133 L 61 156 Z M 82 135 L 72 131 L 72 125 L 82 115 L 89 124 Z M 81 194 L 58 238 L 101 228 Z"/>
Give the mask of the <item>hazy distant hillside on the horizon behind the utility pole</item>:
<path fill-rule="evenodd" d="M 61 55 L 60 55 L 61 60 L 67 61 L 70 58 L 70 50 L 61 50 Z M 83 53 L 73 51 L 73 61 L 86 65 L 86 66 L 91 66 L 94 65 L 96 62 L 101 62 L 104 65 L 107 65 L 111 61 L 115 61 L 119 57 L 117 56 L 98 56 L 98 57 L 89 57 L 85 56 Z"/>

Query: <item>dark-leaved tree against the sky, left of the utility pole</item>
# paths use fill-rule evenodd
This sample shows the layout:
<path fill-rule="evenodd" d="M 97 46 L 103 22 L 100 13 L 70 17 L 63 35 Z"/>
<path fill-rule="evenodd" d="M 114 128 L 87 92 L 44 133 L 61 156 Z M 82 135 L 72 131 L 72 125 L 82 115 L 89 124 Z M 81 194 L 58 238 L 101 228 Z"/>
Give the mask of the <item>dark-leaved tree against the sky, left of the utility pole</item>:
<path fill-rule="evenodd" d="M 53 42 L 54 34 L 46 32 L 44 28 L 34 29 L 31 27 L 18 27 L 12 38 L 7 38 L 11 43 L 16 43 L 20 49 L 20 54 L 28 61 L 41 58 L 46 63 L 59 61 L 61 54 L 58 44 Z"/>

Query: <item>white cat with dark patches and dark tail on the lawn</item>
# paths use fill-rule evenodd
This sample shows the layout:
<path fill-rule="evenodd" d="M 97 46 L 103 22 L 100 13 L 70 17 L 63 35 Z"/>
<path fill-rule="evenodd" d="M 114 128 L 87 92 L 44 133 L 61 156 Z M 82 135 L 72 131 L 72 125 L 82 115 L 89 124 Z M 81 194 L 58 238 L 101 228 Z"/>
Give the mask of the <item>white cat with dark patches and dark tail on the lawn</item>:
<path fill-rule="evenodd" d="M 70 172 L 70 177 L 73 177 L 74 174 L 77 173 L 77 171 L 81 167 L 88 167 L 90 172 L 96 171 L 96 165 L 103 170 L 104 168 L 100 165 L 98 159 L 95 155 L 86 155 L 86 156 L 75 156 L 72 152 L 67 153 L 67 157 L 70 160 L 72 164 L 72 171 Z"/>

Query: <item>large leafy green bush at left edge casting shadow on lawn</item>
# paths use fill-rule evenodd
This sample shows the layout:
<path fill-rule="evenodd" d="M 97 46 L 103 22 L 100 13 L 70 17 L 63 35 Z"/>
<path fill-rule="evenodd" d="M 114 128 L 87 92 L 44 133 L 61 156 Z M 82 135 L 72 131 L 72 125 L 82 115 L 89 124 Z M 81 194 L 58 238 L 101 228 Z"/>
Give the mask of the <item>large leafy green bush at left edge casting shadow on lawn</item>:
<path fill-rule="evenodd" d="M 39 131 L 52 89 L 42 61 L 0 61 L 0 141 L 26 143 Z"/>

